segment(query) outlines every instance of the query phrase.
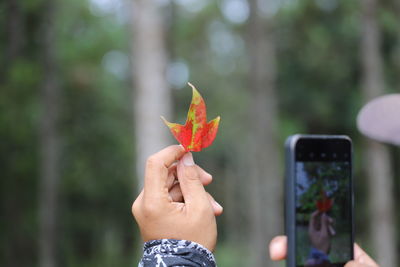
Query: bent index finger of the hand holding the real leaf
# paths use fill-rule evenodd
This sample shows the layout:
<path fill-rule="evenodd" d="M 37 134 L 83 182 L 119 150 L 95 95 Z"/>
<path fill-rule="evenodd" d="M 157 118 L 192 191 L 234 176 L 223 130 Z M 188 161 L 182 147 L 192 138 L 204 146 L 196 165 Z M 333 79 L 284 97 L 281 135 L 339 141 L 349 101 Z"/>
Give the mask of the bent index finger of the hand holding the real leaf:
<path fill-rule="evenodd" d="M 168 167 L 179 160 L 185 149 L 180 145 L 173 145 L 151 155 L 146 162 L 144 178 L 144 196 L 158 197 L 168 194 L 167 186 Z"/>

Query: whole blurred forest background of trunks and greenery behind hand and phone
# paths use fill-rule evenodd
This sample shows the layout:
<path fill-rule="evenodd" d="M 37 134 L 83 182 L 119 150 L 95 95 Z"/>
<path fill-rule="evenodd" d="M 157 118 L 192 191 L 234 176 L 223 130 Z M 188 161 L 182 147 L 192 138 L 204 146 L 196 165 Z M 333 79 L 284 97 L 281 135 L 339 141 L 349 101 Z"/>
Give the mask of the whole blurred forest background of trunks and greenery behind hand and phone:
<path fill-rule="evenodd" d="M 359 109 L 400 89 L 397 0 L 0 2 L 0 266 L 135 266 L 130 206 L 146 157 L 176 143 L 192 82 L 221 115 L 195 161 L 213 174 L 219 266 L 267 259 L 283 233 L 283 144 L 354 141 L 356 241 L 400 255 L 399 149 Z M 397 163 L 397 164 L 395 164 Z"/>

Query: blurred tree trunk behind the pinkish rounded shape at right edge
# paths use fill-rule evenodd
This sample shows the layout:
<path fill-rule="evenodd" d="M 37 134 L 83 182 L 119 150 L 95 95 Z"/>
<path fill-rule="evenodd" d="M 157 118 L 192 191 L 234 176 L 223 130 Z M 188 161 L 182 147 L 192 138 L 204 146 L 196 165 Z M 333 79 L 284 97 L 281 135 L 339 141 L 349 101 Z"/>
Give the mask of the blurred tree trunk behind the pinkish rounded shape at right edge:
<path fill-rule="evenodd" d="M 362 0 L 361 40 L 362 90 L 364 99 L 384 94 L 381 32 L 377 23 L 377 0 Z M 398 266 L 393 209 L 393 175 L 388 147 L 374 141 L 366 143 L 365 170 L 369 186 L 371 241 L 381 266 Z"/>

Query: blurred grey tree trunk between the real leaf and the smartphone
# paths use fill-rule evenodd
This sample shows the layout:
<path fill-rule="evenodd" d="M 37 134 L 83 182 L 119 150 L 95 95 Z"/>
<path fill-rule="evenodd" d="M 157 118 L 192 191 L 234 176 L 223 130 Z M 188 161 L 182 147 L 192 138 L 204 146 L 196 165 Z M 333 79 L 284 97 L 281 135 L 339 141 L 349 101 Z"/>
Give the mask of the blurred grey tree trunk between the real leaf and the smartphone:
<path fill-rule="evenodd" d="M 282 233 L 282 186 L 276 138 L 276 52 L 271 18 L 259 14 L 257 0 L 250 2 L 250 146 L 249 198 L 253 266 L 267 266 L 266 245 Z M 268 207 L 268 208 L 267 208 Z M 270 263 L 272 265 L 272 263 Z"/>

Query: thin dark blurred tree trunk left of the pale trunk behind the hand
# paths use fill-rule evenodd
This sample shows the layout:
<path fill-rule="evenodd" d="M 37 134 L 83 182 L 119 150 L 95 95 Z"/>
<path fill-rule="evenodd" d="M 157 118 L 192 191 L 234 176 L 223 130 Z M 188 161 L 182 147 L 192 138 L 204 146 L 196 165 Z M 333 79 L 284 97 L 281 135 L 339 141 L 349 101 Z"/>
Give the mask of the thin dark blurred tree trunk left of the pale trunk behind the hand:
<path fill-rule="evenodd" d="M 60 87 L 57 81 L 55 43 L 55 5 L 48 0 L 44 7 L 43 23 L 43 88 L 40 123 L 41 180 L 39 188 L 39 266 L 56 266 L 56 222 L 58 210 L 58 184 L 60 180 L 59 117 Z"/>

